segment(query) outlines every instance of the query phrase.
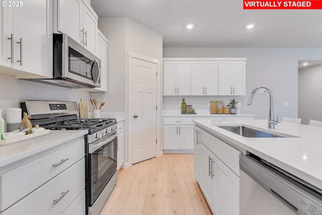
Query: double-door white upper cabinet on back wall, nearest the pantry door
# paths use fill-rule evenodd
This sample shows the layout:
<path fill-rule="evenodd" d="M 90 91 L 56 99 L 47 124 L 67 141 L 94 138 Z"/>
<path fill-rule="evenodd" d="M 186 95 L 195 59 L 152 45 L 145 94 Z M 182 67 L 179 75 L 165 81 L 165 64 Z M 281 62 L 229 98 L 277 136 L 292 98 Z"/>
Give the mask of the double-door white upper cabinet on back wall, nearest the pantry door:
<path fill-rule="evenodd" d="M 191 62 L 164 61 L 164 95 L 191 94 Z"/>

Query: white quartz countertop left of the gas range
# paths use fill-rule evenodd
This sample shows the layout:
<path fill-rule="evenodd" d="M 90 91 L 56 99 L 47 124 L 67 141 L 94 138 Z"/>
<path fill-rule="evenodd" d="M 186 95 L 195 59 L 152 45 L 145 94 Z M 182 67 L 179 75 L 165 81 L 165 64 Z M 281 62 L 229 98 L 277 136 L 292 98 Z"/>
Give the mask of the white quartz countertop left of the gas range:
<path fill-rule="evenodd" d="M 51 149 L 87 133 L 88 130 L 51 130 L 51 133 L 43 136 L 0 146 L 0 167 Z"/>

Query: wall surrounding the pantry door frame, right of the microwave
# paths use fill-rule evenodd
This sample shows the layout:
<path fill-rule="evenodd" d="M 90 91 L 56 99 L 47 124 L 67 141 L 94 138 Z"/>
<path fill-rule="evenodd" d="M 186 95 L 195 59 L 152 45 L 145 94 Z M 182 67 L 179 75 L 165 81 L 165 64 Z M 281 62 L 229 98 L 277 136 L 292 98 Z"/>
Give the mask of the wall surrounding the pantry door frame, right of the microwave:
<path fill-rule="evenodd" d="M 162 60 L 162 35 L 132 20 L 100 18 L 99 29 L 108 38 L 107 93 L 91 93 L 105 104 L 102 111 L 125 112 L 124 163 L 131 165 L 131 147 L 128 139 L 128 51 Z M 130 149 L 130 150 L 128 150 Z"/>

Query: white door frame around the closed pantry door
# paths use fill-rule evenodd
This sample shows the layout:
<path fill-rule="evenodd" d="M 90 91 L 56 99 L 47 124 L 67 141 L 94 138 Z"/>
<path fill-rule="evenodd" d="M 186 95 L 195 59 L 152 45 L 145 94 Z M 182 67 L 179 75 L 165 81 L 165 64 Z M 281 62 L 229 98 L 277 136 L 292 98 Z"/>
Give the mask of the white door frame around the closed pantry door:
<path fill-rule="evenodd" d="M 160 138 L 160 116 L 161 116 L 161 106 L 160 106 L 160 65 L 161 60 L 148 57 L 142 54 L 134 53 L 131 51 L 128 51 L 128 57 L 129 57 L 129 88 L 128 88 L 128 164 L 126 167 L 132 166 L 132 132 L 133 132 L 133 58 L 144 60 L 147 62 L 155 63 L 156 64 L 156 152 L 155 157 L 161 156 L 163 154 L 162 146 L 161 146 L 161 138 Z"/>

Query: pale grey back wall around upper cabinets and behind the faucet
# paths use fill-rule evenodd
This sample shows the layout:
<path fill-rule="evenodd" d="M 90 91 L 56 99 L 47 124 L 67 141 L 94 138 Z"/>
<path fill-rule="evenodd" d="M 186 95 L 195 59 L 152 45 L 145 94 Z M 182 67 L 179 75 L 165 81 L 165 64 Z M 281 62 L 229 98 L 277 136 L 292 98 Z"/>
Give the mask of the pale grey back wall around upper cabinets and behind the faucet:
<path fill-rule="evenodd" d="M 322 48 L 172 48 L 165 47 L 163 57 L 246 57 L 246 96 L 239 96 L 241 113 L 255 114 L 256 119 L 267 119 L 269 96 L 256 93 L 253 105 L 246 105 L 247 99 L 256 87 L 267 87 L 274 95 L 274 112 L 279 115 L 297 118 L 297 60 L 322 59 Z M 180 97 L 181 99 L 182 97 Z M 216 97 L 211 98 L 211 100 Z M 226 100 L 230 100 L 227 97 Z M 180 100 L 178 98 L 178 100 Z M 173 101 L 176 100 L 176 101 Z M 186 98 L 186 101 L 188 98 Z M 194 99 L 188 102 L 208 104 L 210 99 Z M 220 99 L 221 100 L 221 99 Z M 223 99 L 224 100 L 224 99 Z M 169 108 L 177 99 L 164 96 L 164 108 Z M 289 107 L 284 107 L 289 102 Z M 179 108 L 179 106 L 178 106 Z"/>

